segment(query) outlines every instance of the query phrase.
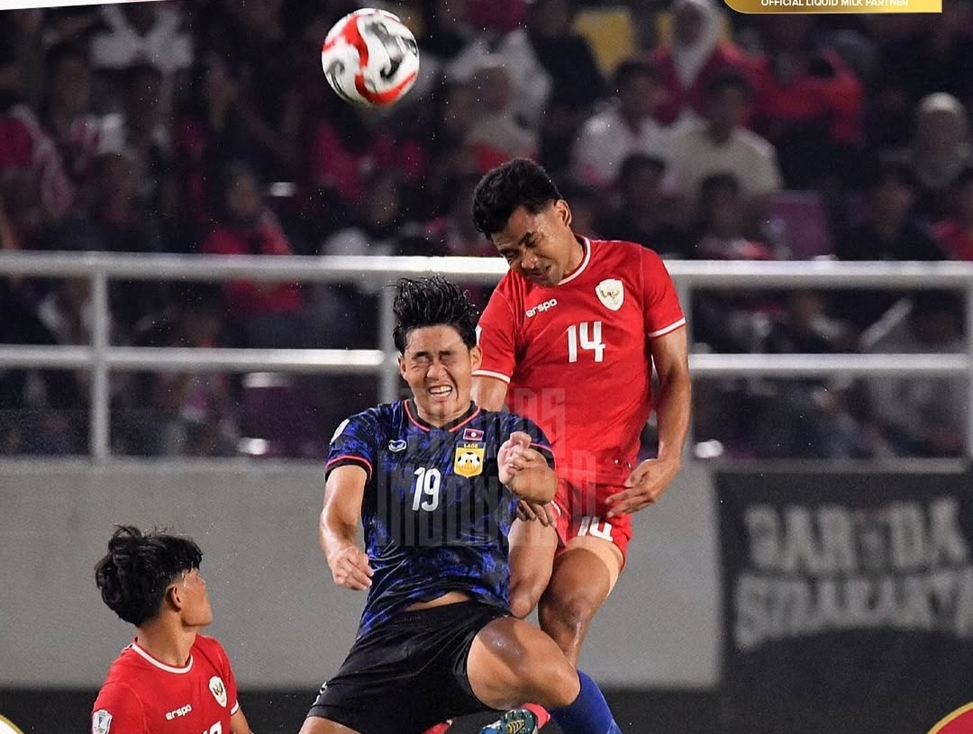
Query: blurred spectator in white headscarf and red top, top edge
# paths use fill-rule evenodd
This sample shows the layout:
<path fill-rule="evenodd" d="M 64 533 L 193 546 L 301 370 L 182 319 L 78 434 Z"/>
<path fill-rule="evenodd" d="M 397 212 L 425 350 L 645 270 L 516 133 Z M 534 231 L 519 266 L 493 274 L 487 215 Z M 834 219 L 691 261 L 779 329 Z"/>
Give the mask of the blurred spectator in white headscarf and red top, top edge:
<path fill-rule="evenodd" d="M 671 41 L 650 55 L 665 90 L 654 111 L 663 124 L 702 116 L 709 79 L 730 68 L 746 73 L 750 63 L 742 49 L 722 38 L 724 14 L 713 0 L 675 0 L 669 13 Z"/>

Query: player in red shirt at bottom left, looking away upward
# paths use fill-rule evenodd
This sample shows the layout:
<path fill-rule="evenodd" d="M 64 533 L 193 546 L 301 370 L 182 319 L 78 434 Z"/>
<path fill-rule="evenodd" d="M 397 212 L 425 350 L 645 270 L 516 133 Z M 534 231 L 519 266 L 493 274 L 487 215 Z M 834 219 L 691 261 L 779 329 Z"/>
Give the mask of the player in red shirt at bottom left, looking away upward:
<path fill-rule="evenodd" d="M 91 734 L 252 734 L 189 538 L 120 526 L 94 568 L 101 598 L 135 625 L 98 692 Z"/>

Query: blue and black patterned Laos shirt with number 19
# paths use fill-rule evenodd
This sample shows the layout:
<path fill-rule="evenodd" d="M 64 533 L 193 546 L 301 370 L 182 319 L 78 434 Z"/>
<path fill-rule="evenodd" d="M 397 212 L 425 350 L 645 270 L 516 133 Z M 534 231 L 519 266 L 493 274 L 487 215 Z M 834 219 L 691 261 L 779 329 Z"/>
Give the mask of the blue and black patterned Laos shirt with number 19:
<path fill-rule="evenodd" d="M 375 575 L 359 636 L 450 591 L 508 606 L 507 533 L 517 498 L 500 483 L 496 454 L 514 431 L 528 434 L 554 467 L 550 441 L 534 423 L 473 403 L 443 427 L 422 420 L 411 400 L 342 423 L 326 472 L 352 464 L 368 474 L 362 524 Z"/>

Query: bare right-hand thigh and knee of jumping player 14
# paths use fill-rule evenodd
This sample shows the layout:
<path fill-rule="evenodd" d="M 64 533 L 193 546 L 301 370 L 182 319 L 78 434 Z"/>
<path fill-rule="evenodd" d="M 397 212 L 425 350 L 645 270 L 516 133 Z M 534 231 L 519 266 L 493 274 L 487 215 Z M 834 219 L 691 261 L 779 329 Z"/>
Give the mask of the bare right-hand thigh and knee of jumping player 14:
<path fill-rule="evenodd" d="M 595 612 L 614 588 L 623 563 L 615 543 L 590 535 L 570 539 L 555 559 L 537 617 L 541 629 L 573 665 L 578 663 Z"/>

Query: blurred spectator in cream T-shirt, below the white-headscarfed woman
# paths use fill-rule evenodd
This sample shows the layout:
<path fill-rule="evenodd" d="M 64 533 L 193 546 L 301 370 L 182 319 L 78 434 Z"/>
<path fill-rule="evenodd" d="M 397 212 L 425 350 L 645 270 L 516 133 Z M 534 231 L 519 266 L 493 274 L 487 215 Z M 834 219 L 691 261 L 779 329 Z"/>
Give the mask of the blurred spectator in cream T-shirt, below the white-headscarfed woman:
<path fill-rule="evenodd" d="M 739 72 L 709 79 L 703 120 L 685 122 L 672 133 L 666 188 L 677 201 L 694 201 L 707 176 L 733 174 L 743 208 L 741 225 L 753 232 L 770 194 L 781 188 L 781 178 L 774 146 L 743 127 L 749 91 Z"/>

